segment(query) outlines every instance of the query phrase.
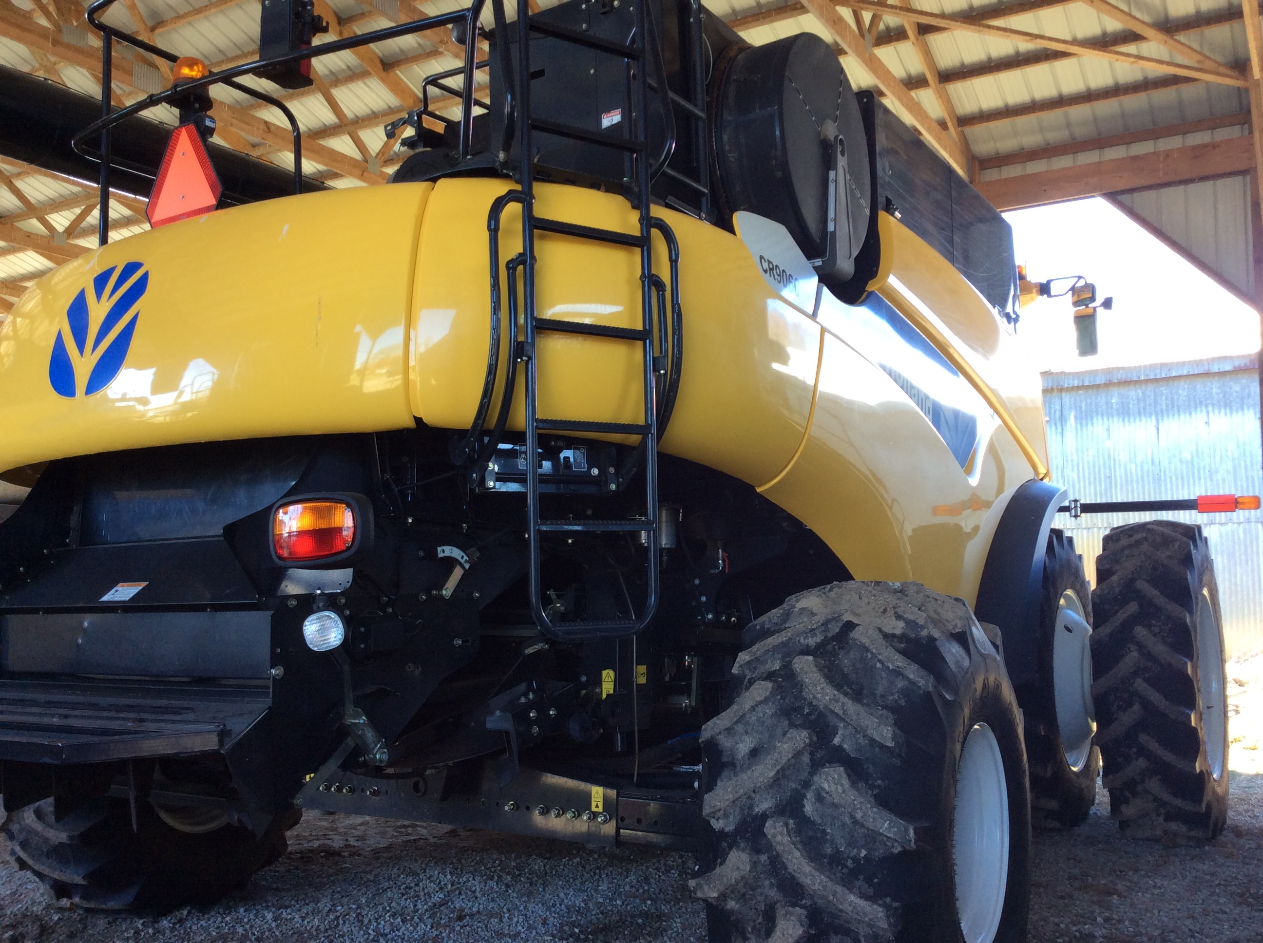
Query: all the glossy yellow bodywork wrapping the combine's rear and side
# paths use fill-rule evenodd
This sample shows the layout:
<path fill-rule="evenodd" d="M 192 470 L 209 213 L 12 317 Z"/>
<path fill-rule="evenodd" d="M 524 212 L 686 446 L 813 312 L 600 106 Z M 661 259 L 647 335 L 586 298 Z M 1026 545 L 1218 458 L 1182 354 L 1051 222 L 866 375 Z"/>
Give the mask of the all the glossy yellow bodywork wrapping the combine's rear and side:
<path fill-rule="evenodd" d="M 486 213 L 509 188 L 461 178 L 277 199 L 62 266 L 0 326 L 0 470 L 193 441 L 407 428 L 414 417 L 467 428 L 488 356 Z M 864 309 L 813 319 L 764 280 L 740 239 L 654 212 L 679 241 L 685 323 L 663 451 L 763 487 L 856 577 L 919 579 L 973 601 L 1008 495 L 1047 461 L 1038 375 L 1008 328 L 941 256 L 882 218 L 880 298 L 960 365 L 954 383 L 969 393 L 965 376 L 979 403 L 1007 417 L 980 408 L 965 462 L 865 347 L 847 314 Z M 537 213 L 637 226 L 621 197 L 575 187 L 539 186 Z M 520 249 L 515 205 L 499 245 L 501 265 Z M 152 282 L 124 371 L 95 395 L 57 395 L 49 356 L 67 305 L 93 274 L 131 260 Z M 542 317 L 639 326 L 635 250 L 541 234 L 537 260 Z M 654 269 L 668 278 L 658 236 Z M 642 419 L 638 345 L 541 333 L 536 356 L 541 415 Z M 522 383 L 519 371 L 515 429 Z"/>

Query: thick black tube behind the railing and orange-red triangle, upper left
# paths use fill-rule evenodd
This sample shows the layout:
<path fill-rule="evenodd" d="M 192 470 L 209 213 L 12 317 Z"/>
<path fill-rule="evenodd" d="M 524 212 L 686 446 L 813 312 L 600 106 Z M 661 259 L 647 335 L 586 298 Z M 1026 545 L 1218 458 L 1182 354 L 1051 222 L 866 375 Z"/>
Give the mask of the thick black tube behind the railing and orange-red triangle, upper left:
<path fill-rule="evenodd" d="M 0 155 L 73 177 L 95 188 L 101 165 L 76 154 L 71 139 L 100 117 L 101 104 L 93 96 L 0 66 Z M 148 199 L 171 133 L 171 125 L 139 116 L 115 125 L 110 134 L 110 188 Z M 289 170 L 213 140 L 207 150 L 224 184 L 220 206 L 254 203 L 294 192 L 294 175 Z M 307 193 L 322 189 L 327 187 L 303 182 Z"/>

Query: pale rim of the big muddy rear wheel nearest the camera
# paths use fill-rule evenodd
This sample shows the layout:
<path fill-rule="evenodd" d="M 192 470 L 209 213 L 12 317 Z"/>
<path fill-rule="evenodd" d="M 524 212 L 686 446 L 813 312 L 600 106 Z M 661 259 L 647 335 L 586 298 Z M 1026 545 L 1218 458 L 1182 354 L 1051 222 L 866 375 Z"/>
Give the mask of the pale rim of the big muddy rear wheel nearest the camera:
<path fill-rule="evenodd" d="M 974 725 L 960 754 L 952 862 L 965 943 L 991 943 L 1009 877 L 1009 792 L 1000 745 L 985 723 Z"/>

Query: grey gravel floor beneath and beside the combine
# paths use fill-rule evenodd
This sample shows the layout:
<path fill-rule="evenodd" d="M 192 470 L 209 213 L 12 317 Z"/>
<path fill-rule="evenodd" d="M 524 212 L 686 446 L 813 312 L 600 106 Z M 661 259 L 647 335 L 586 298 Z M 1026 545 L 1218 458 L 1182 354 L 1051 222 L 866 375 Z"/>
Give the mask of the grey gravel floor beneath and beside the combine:
<path fill-rule="evenodd" d="M 1074 832 L 1037 833 L 1032 943 L 1263 942 L 1263 658 L 1234 663 L 1233 799 L 1216 842 L 1124 839 L 1103 795 Z M 0 943 L 106 940 L 601 940 L 706 938 L 692 858 L 309 814 L 242 891 L 163 918 L 51 904 L 0 838 Z"/>

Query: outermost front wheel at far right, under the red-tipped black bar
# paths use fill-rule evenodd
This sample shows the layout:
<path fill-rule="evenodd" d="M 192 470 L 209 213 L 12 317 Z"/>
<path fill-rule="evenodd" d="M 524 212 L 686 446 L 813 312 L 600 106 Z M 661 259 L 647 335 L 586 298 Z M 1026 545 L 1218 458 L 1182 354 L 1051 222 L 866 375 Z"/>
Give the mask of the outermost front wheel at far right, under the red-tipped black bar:
<path fill-rule="evenodd" d="M 1219 590 L 1201 528 L 1105 535 L 1096 558 L 1092 694 L 1110 814 L 1139 838 L 1215 838 L 1228 817 Z"/>

